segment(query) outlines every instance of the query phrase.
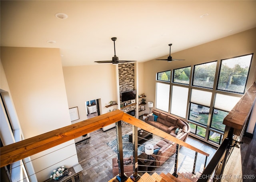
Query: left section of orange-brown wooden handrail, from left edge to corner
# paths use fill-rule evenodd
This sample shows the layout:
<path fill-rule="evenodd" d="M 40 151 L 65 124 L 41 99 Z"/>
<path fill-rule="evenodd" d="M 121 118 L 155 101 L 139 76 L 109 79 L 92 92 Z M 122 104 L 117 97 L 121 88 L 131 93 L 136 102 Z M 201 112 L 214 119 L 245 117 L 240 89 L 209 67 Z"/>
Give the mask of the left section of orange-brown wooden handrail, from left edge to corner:
<path fill-rule="evenodd" d="M 0 166 L 2 168 L 28 156 L 118 122 L 122 120 L 123 113 L 121 110 L 108 112 L 14 144 L 3 146 L 0 148 Z"/>

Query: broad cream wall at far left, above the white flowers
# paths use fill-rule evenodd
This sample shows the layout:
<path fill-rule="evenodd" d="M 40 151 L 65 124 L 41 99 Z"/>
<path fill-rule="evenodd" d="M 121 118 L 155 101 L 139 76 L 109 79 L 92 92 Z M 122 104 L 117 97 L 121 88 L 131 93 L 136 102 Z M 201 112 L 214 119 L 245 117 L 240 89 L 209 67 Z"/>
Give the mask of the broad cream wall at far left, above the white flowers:
<path fill-rule="evenodd" d="M 1 47 L 1 62 L 25 139 L 71 124 L 59 49 Z M 48 151 L 55 150 L 31 156 L 38 181 L 78 164 L 74 140 Z"/>

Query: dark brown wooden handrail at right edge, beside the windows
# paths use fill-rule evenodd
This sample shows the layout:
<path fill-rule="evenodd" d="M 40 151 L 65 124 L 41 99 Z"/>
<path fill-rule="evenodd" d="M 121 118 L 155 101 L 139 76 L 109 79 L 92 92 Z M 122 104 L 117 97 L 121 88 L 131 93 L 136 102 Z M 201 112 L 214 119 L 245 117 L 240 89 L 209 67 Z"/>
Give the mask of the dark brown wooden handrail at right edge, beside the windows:
<path fill-rule="evenodd" d="M 252 111 L 256 99 L 256 83 L 254 82 L 236 106 L 224 118 L 223 124 L 234 128 L 234 134 L 240 136 L 244 125 Z"/>

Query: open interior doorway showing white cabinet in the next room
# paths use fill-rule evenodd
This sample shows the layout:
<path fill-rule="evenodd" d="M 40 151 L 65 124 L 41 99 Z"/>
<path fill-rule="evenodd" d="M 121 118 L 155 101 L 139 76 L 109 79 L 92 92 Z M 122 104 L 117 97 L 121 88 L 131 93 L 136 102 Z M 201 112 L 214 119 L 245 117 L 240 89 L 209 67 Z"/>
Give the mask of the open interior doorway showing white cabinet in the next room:
<path fill-rule="evenodd" d="M 100 115 L 100 99 L 86 101 L 87 119 Z"/>

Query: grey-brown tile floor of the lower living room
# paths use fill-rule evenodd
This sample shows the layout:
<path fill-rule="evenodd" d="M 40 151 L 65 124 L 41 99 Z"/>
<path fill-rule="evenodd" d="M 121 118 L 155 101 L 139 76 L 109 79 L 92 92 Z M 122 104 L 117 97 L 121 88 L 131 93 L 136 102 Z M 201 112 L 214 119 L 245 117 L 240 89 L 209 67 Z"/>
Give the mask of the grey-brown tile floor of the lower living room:
<path fill-rule="evenodd" d="M 132 125 L 122 122 L 122 134 L 127 134 L 132 131 Z M 154 137 L 154 136 L 153 136 Z M 112 128 L 106 132 L 101 129 L 90 133 L 89 143 L 76 144 L 76 150 L 78 154 L 78 160 L 84 169 L 83 182 L 108 182 L 113 178 L 112 174 L 112 158 L 117 157 L 117 154 L 110 149 L 107 145 L 108 142 L 116 139 L 116 129 Z M 188 137 L 187 143 L 196 146 L 197 148 L 210 154 L 207 161 L 216 152 L 216 148 L 208 146 L 207 144 L 200 142 L 192 137 Z M 185 147 L 180 148 L 178 172 L 192 172 L 195 152 L 190 151 Z M 155 172 L 174 172 L 174 159 L 168 159 L 161 167 L 156 167 Z M 183 160 L 184 159 L 184 160 Z M 190 161 L 190 162 L 188 162 Z M 204 166 L 205 156 L 198 154 L 196 163 L 196 172 L 202 171 Z M 139 172 L 139 174 L 141 174 Z"/>

